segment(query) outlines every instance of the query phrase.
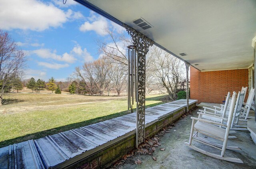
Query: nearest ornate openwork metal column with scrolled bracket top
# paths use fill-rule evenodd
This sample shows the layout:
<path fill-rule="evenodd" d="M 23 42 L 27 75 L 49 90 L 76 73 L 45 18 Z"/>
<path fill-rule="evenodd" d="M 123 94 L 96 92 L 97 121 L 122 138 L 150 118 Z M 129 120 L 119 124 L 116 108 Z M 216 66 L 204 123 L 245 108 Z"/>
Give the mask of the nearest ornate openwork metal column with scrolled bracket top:
<path fill-rule="evenodd" d="M 138 53 L 137 63 L 137 123 L 136 123 L 136 147 L 145 141 L 145 77 L 146 77 L 146 54 L 153 41 L 139 33 L 138 31 L 124 25 L 128 34 L 132 37 L 132 43 L 136 46 Z"/>

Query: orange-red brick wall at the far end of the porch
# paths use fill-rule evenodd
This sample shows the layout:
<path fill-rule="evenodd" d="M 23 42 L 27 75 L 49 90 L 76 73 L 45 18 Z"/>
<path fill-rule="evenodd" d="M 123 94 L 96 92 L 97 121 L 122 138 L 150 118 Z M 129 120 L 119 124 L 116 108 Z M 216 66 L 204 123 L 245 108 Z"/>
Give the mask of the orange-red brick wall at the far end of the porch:
<path fill-rule="evenodd" d="M 248 69 L 200 72 L 190 67 L 190 98 L 198 102 L 222 103 L 228 91 L 248 86 Z M 245 102 L 248 97 L 248 89 Z"/>

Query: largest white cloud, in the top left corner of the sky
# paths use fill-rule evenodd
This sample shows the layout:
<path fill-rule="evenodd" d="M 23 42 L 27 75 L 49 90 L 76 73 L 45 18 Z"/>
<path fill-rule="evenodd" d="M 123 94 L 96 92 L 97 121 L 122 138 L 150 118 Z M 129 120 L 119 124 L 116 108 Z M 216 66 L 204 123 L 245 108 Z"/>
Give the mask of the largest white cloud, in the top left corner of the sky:
<path fill-rule="evenodd" d="M 79 12 L 65 12 L 52 3 L 46 4 L 38 0 L 4 0 L 0 5 L 0 28 L 7 30 L 43 31 L 62 26 L 68 20 L 79 17 Z"/>

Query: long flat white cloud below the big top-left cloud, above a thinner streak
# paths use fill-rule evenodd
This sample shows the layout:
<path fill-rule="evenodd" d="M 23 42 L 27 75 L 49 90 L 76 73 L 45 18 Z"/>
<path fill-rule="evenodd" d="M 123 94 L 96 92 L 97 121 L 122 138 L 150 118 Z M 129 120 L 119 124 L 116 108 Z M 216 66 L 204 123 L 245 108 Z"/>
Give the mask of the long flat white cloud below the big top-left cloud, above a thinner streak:
<path fill-rule="evenodd" d="M 37 50 L 33 50 L 33 51 L 26 51 L 27 55 L 31 55 L 31 54 L 36 54 L 41 58 L 44 59 L 54 59 L 57 61 L 64 61 L 67 63 L 74 63 L 77 59 L 73 56 L 70 55 L 68 53 L 64 53 L 62 56 L 61 55 L 57 55 L 56 51 L 51 51 L 50 49 L 37 49 Z"/>

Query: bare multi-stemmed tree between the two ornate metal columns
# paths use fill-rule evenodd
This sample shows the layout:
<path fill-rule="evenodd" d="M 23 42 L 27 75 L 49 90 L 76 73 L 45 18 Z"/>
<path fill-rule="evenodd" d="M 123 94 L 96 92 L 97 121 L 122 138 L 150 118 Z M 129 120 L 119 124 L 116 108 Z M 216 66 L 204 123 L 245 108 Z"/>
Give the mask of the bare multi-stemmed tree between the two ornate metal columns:
<path fill-rule="evenodd" d="M 178 85 L 185 77 L 184 62 L 156 46 L 152 47 L 150 55 L 154 56 L 152 66 L 158 85 L 164 87 L 170 99 L 174 100 Z"/>

